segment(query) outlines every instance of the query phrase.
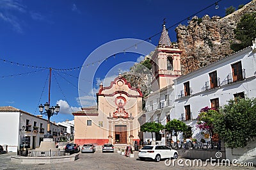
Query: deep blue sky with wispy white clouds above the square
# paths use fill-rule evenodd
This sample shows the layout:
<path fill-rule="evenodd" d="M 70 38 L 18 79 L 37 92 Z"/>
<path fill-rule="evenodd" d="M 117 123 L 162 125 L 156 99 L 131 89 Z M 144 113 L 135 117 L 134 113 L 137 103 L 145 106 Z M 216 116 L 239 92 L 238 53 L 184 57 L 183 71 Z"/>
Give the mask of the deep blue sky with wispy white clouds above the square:
<path fill-rule="evenodd" d="M 12 105 L 31 114 L 40 114 L 38 104 L 48 100 L 49 69 L 45 68 L 77 68 L 100 45 L 120 38 L 145 40 L 161 31 L 164 18 L 166 27 L 170 27 L 215 2 L 1 0 L 0 106 Z M 239 4 L 249 2 L 222 0 L 218 10 L 211 6 L 197 16 L 223 17 L 229 6 L 237 8 Z M 176 41 L 174 30 L 175 27 L 168 29 L 172 42 Z M 159 37 L 152 38 L 153 45 L 157 45 Z M 107 57 L 100 56 L 99 59 Z M 115 58 L 101 64 L 93 79 L 87 81 L 92 81 L 92 88 L 97 90 L 107 74 L 111 80 L 118 72 L 129 70 L 138 58 L 140 54 L 116 54 Z M 91 58 L 88 69 L 92 63 L 97 65 L 99 59 L 93 63 Z M 119 65 L 124 61 L 126 64 Z M 52 121 L 72 120 L 73 116 L 68 113 L 81 107 L 77 89 L 80 70 L 52 72 L 51 105 L 56 102 L 61 105 L 61 112 L 53 116 Z M 92 88 L 84 95 L 92 101 L 88 105 L 93 104 Z"/>

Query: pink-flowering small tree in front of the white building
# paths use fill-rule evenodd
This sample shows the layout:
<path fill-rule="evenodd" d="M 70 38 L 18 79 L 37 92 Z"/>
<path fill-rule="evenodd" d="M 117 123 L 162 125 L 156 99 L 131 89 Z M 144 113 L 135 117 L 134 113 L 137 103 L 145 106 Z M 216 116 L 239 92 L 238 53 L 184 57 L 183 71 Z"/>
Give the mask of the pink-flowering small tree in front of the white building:
<path fill-rule="evenodd" d="M 218 112 L 215 109 L 204 107 L 200 109 L 200 113 L 197 117 L 197 128 L 200 128 L 200 130 L 208 130 L 210 134 L 210 140 L 212 142 L 212 136 L 214 134 L 213 130 L 213 121 L 215 114 L 218 114 Z"/>

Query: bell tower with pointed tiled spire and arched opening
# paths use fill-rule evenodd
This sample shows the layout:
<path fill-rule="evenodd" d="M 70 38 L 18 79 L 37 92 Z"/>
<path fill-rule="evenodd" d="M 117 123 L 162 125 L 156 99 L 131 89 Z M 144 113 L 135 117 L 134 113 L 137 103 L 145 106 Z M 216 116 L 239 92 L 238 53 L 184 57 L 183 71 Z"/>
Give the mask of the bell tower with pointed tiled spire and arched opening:
<path fill-rule="evenodd" d="M 163 23 L 163 31 L 157 48 L 152 56 L 152 73 L 154 77 L 151 81 L 152 91 L 165 88 L 173 84 L 173 79 L 181 76 L 180 54 L 177 43 L 172 43 Z"/>

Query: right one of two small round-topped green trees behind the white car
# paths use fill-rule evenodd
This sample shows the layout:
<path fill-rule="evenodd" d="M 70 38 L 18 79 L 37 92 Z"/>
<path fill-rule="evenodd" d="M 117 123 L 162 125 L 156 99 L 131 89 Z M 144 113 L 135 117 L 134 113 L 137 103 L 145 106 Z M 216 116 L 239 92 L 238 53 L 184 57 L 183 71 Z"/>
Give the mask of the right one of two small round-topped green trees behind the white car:
<path fill-rule="evenodd" d="M 168 121 L 164 128 L 166 128 L 166 130 L 168 130 L 169 132 L 172 132 L 174 130 L 174 132 L 176 132 L 176 137 L 178 132 L 188 132 L 188 127 L 186 123 L 175 119 Z"/>

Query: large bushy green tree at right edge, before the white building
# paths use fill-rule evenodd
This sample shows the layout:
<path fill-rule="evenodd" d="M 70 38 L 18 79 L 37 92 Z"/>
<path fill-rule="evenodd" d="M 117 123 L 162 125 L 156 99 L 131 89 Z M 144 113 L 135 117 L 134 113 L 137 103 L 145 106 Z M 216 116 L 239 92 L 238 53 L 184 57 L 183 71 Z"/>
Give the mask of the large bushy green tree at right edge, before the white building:
<path fill-rule="evenodd" d="M 256 137 L 256 99 L 235 98 L 215 115 L 214 131 L 228 148 L 244 147 Z"/>

